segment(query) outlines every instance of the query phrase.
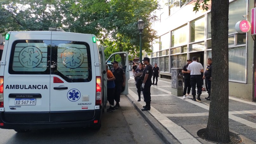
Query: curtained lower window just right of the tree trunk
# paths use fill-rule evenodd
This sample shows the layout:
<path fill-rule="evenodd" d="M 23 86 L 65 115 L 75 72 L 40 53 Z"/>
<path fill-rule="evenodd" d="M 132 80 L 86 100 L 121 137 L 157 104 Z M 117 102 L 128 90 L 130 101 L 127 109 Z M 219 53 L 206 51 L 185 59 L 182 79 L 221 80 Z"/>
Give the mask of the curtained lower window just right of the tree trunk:
<path fill-rule="evenodd" d="M 228 49 L 228 78 L 233 81 L 246 82 L 246 47 Z"/>

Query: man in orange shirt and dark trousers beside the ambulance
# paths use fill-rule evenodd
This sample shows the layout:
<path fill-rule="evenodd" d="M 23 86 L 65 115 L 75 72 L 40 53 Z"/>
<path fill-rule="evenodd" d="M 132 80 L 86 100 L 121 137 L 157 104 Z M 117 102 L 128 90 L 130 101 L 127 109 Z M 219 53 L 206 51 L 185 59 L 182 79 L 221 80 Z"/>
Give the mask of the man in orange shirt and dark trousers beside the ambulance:
<path fill-rule="evenodd" d="M 109 102 L 110 107 L 107 109 L 107 112 L 114 112 L 114 98 L 115 98 L 115 76 L 113 73 L 108 69 L 108 65 L 106 65 L 107 69 L 107 99 Z"/>

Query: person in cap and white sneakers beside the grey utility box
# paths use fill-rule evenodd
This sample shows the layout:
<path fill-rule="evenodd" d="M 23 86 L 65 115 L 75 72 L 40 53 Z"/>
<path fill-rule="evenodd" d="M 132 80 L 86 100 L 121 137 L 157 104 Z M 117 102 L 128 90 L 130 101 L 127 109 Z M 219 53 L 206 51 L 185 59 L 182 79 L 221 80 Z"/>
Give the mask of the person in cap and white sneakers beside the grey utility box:
<path fill-rule="evenodd" d="M 182 69 L 182 73 L 184 76 L 184 89 L 183 89 L 183 99 L 185 100 L 186 98 L 192 99 L 192 97 L 189 95 L 190 90 L 191 90 L 191 84 L 190 84 L 190 74 L 187 72 L 187 67 L 188 65 L 192 62 L 191 59 L 187 60 L 187 64 L 184 65 Z M 187 95 L 186 95 L 187 92 Z"/>

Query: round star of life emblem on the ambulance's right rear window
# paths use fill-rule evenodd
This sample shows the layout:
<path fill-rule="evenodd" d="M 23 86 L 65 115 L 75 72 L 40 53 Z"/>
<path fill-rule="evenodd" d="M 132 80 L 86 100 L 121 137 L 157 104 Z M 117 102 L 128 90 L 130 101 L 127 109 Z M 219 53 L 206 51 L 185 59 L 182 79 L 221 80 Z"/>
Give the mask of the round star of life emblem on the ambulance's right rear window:
<path fill-rule="evenodd" d="M 83 53 L 80 49 L 68 47 L 62 54 L 62 63 L 64 66 L 75 69 L 83 63 Z"/>

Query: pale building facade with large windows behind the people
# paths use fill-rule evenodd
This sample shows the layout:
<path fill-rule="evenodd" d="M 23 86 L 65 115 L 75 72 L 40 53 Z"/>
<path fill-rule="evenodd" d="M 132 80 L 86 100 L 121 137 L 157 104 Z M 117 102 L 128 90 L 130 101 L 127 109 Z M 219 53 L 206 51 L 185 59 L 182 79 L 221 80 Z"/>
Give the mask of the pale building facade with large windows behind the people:
<path fill-rule="evenodd" d="M 157 63 L 161 77 L 171 78 L 171 68 L 182 68 L 193 56 L 204 66 L 212 56 L 211 1 L 209 10 L 193 11 L 195 0 L 160 0 L 159 21 L 153 28 L 159 39 L 152 42 L 153 53 L 146 56 Z M 253 38 L 251 31 L 238 33 L 235 24 L 251 21 L 253 0 L 230 0 L 229 4 L 229 95 L 256 100 L 253 81 Z M 221 53 L 221 51 L 220 51 Z"/>

